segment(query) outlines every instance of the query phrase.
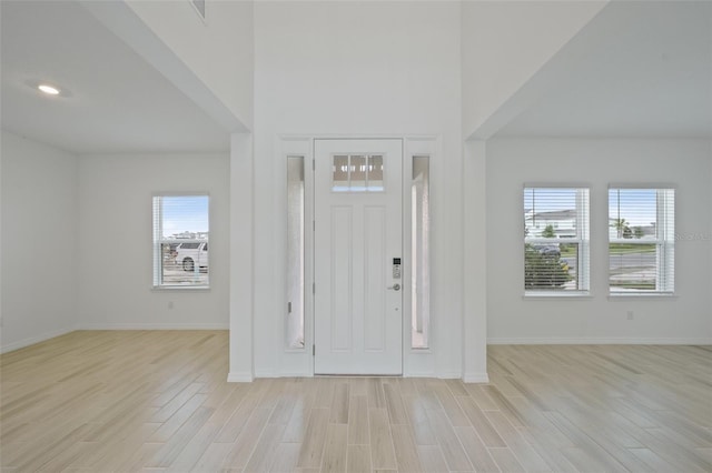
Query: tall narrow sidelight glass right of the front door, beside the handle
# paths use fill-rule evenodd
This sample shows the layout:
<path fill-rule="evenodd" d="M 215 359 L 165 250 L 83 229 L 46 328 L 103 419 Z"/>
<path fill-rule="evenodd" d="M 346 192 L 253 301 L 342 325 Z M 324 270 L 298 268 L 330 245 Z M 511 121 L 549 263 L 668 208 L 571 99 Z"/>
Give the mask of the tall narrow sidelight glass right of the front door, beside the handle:
<path fill-rule="evenodd" d="M 413 157 L 411 182 L 411 346 L 427 349 L 431 328 L 429 157 Z"/>

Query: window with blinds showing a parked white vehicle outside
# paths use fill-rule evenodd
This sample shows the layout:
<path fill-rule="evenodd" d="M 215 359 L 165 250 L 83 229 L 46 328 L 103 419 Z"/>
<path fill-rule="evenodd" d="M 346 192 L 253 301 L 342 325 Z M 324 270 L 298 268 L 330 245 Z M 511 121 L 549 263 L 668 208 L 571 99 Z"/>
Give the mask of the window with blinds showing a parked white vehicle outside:
<path fill-rule="evenodd" d="M 208 288 L 209 198 L 154 195 L 154 288 Z"/>

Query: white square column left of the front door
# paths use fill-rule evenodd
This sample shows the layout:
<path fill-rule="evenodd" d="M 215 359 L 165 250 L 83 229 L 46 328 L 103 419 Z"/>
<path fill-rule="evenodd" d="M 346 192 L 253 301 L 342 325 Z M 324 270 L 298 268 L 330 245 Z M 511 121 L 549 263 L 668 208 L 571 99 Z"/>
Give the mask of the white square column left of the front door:
<path fill-rule="evenodd" d="M 230 372 L 228 382 L 254 375 L 254 172 L 253 135 L 230 137 Z"/>

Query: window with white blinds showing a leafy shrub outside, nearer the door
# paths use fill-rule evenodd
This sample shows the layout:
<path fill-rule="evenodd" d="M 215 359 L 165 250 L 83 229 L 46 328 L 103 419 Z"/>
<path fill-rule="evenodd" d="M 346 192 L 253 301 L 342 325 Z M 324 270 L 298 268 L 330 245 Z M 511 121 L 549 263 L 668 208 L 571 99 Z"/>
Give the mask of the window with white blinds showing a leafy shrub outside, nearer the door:
<path fill-rule="evenodd" d="M 589 292 L 589 189 L 524 188 L 525 295 Z"/>

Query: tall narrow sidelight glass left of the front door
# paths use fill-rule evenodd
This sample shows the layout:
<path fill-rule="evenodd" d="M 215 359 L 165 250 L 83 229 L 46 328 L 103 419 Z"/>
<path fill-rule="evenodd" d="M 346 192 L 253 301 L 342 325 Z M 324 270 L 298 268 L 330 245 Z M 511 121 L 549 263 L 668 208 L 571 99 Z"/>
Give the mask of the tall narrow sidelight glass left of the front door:
<path fill-rule="evenodd" d="M 304 157 L 287 158 L 286 345 L 304 348 Z"/>

